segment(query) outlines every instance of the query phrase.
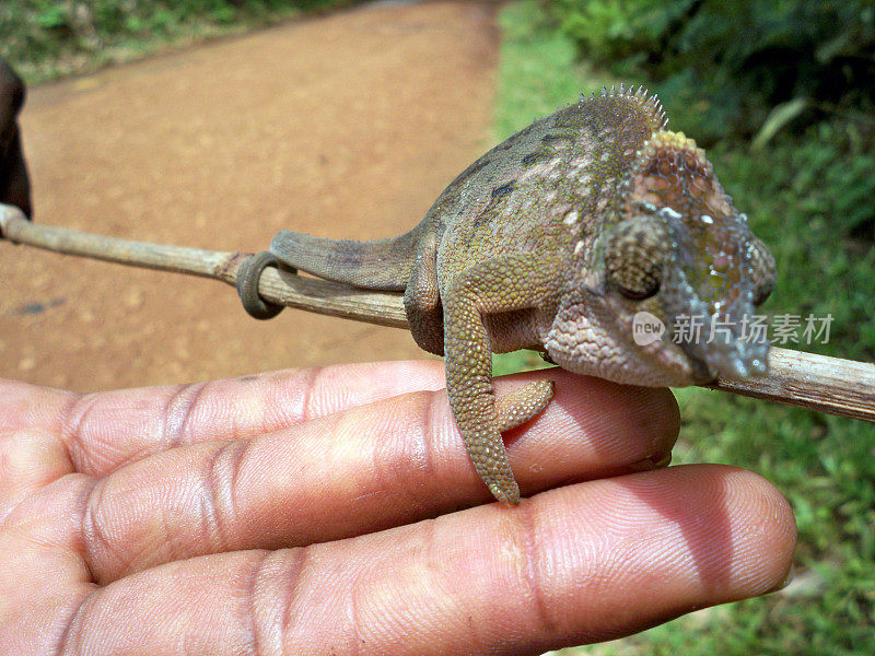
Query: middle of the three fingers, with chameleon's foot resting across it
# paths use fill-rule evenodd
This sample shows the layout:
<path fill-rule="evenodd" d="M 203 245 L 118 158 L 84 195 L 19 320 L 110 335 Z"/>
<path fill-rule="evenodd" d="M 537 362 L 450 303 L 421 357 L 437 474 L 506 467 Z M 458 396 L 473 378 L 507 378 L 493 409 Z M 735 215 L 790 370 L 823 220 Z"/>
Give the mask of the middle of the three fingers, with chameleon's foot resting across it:
<path fill-rule="evenodd" d="M 562 383 L 510 448 L 524 491 L 629 471 L 670 450 L 677 417 L 667 391 Z M 206 553 L 380 530 L 487 497 L 445 393 L 408 394 L 253 440 L 182 446 L 112 473 L 85 504 L 86 561 L 106 583 Z"/>

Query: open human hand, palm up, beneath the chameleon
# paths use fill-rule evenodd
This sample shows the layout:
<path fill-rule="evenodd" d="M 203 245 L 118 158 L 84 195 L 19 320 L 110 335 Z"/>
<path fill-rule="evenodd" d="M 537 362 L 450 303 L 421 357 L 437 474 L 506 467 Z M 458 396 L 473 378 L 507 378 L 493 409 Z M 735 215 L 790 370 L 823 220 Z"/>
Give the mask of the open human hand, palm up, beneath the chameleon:
<path fill-rule="evenodd" d="M 781 585 L 774 488 L 654 469 L 668 391 L 495 385 L 546 376 L 555 399 L 508 436 L 518 507 L 465 507 L 489 492 L 439 362 L 84 397 L 0 382 L 0 653 L 537 654 Z"/>

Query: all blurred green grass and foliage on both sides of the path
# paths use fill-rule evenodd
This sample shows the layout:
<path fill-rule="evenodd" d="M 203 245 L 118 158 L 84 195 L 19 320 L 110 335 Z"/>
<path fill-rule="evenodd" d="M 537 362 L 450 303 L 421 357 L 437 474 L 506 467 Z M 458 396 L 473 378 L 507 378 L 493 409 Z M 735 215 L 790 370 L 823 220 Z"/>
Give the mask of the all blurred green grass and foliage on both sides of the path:
<path fill-rule="evenodd" d="M 30 81 L 352 0 L 3 0 L 0 56 Z M 503 5 L 495 138 L 620 81 L 708 149 L 778 260 L 770 314 L 831 315 L 804 350 L 875 360 L 875 2 L 523 0 Z M 794 344 L 788 344 L 793 348 Z M 537 358 L 495 359 L 495 372 Z M 676 462 L 746 467 L 796 513 L 785 590 L 576 654 L 875 653 L 875 429 L 704 389 L 676 391 Z"/>

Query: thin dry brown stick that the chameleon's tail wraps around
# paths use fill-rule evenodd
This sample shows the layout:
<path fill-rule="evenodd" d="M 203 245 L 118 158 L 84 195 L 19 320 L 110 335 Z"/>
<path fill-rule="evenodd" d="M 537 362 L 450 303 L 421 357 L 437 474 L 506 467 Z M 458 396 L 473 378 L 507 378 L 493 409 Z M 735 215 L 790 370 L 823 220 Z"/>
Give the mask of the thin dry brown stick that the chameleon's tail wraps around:
<path fill-rule="evenodd" d="M 214 278 L 234 285 L 245 253 L 220 253 L 131 242 L 66 227 L 37 225 L 10 206 L 0 203 L 0 236 L 63 253 L 121 265 Z M 265 269 L 258 293 L 278 305 L 318 314 L 406 328 L 400 294 L 370 292 Z M 772 348 L 769 373 L 748 380 L 720 378 L 708 385 L 734 394 L 790 403 L 875 423 L 875 364 Z"/>

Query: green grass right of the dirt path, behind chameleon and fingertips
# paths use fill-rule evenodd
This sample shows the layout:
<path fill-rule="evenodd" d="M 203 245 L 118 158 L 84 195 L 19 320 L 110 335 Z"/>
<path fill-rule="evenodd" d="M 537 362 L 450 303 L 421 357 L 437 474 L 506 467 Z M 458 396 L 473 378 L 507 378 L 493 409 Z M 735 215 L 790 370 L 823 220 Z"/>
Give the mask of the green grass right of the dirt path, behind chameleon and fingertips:
<path fill-rule="evenodd" d="M 612 81 L 575 63 L 574 47 L 540 5 L 501 13 L 498 138 Z M 626 80 L 643 83 L 644 80 Z M 688 122 L 670 117 L 675 129 Z M 779 284 L 763 309 L 832 314 L 830 341 L 804 350 L 875 359 L 875 247 L 855 231 L 871 211 L 875 161 L 839 151 L 830 125 L 765 149 L 721 142 L 709 155 L 755 232 L 771 247 Z M 695 137 L 695 134 L 693 134 Z M 851 236 L 855 235 L 855 236 Z M 789 344 L 793 345 L 793 344 Z M 495 358 L 497 373 L 535 360 Z M 875 429 L 795 408 L 699 388 L 676 390 L 681 437 L 675 462 L 725 462 L 772 481 L 796 514 L 796 581 L 784 593 L 680 618 L 630 639 L 563 654 L 863 655 L 875 648 Z"/>

